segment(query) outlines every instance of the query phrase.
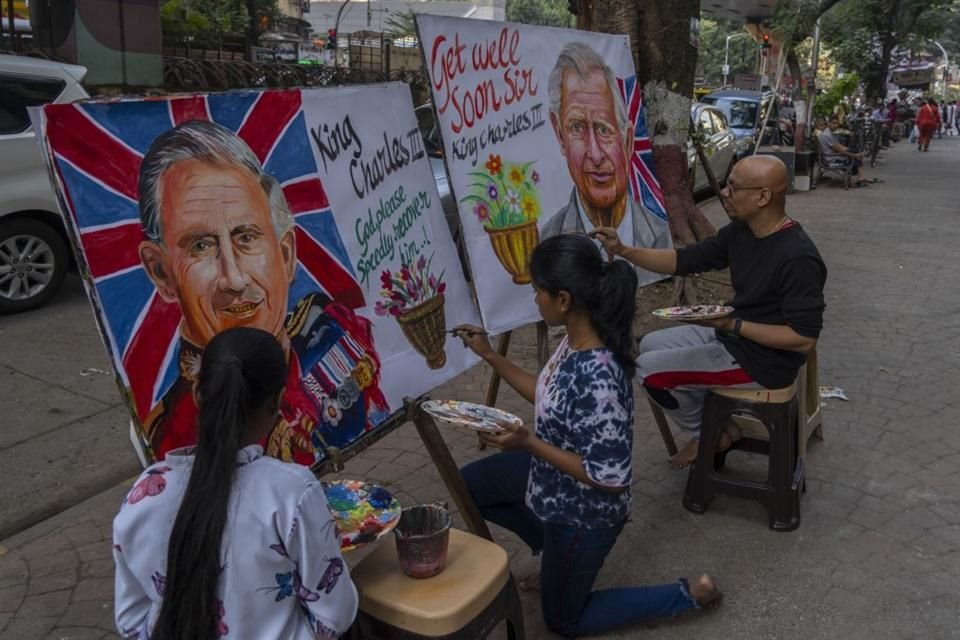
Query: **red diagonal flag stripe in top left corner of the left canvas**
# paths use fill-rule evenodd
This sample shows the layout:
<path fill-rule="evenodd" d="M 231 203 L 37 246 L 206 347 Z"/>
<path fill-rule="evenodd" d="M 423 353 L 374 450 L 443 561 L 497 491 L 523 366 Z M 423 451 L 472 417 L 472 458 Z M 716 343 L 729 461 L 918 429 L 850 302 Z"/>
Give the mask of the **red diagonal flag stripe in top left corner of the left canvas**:
<path fill-rule="evenodd" d="M 93 124 L 71 104 L 45 107 L 51 147 L 81 171 L 133 200 L 137 199 L 139 154 Z"/>

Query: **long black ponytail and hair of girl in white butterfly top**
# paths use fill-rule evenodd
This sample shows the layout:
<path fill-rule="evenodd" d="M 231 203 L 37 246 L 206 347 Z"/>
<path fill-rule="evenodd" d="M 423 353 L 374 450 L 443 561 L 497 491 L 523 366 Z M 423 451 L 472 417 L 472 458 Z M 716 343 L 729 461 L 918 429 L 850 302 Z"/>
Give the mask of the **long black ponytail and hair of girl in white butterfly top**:
<path fill-rule="evenodd" d="M 190 481 L 170 534 L 163 604 L 154 640 L 213 640 L 220 603 L 220 543 L 251 418 L 275 403 L 287 364 L 276 338 L 228 329 L 203 353 L 197 387 L 200 424 Z"/>

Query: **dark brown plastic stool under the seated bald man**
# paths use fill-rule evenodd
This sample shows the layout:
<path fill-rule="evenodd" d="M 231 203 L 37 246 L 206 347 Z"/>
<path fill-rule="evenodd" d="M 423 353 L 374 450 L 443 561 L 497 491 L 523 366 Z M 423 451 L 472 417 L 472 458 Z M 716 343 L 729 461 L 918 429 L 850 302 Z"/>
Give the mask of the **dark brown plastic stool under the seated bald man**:
<path fill-rule="evenodd" d="M 683 506 L 693 513 L 704 513 L 717 494 L 747 498 L 767 508 L 771 529 L 793 531 L 799 527 L 804 464 L 797 457 L 797 385 L 783 389 L 713 389 L 707 394 L 703 414 L 697 461 L 687 476 Z M 744 436 L 731 447 L 769 456 L 765 482 L 732 478 L 719 471 L 726 452 L 718 456 L 717 443 L 734 416 L 766 427 L 769 439 Z"/>

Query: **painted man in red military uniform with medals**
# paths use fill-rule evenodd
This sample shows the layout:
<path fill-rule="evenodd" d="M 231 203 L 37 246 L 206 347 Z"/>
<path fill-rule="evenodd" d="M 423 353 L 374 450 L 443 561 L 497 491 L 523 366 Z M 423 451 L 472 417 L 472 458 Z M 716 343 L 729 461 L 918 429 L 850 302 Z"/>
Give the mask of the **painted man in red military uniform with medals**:
<path fill-rule="evenodd" d="M 294 221 L 279 183 L 228 129 L 191 121 L 154 140 L 140 168 L 140 260 L 177 303 L 179 376 L 145 420 L 158 458 L 196 440 L 193 383 L 204 346 L 238 326 L 276 335 L 289 372 L 268 455 L 312 464 L 372 428 L 388 407 L 369 321 L 314 293 L 287 314 Z"/>

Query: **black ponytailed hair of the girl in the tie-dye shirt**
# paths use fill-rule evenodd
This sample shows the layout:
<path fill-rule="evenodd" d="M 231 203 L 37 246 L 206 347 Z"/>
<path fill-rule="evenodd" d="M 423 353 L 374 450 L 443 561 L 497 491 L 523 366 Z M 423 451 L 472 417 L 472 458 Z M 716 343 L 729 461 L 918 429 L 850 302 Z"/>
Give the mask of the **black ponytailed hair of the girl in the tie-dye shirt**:
<path fill-rule="evenodd" d="M 565 233 L 537 245 L 530 256 L 530 276 L 538 289 L 552 296 L 569 293 L 573 307 L 587 313 L 597 336 L 627 378 L 633 378 L 637 272 L 630 263 L 606 262 L 593 240 Z"/>

